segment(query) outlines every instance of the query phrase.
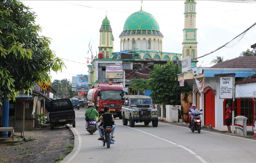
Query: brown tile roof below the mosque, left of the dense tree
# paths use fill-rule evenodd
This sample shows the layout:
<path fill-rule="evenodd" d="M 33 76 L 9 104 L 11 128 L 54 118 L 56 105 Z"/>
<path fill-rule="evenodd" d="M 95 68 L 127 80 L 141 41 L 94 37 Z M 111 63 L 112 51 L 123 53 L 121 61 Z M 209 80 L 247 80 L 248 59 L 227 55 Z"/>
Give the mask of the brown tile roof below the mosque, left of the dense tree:
<path fill-rule="evenodd" d="M 143 69 L 124 69 L 126 79 L 148 79 L 152 69 L 145 67 Z"/>

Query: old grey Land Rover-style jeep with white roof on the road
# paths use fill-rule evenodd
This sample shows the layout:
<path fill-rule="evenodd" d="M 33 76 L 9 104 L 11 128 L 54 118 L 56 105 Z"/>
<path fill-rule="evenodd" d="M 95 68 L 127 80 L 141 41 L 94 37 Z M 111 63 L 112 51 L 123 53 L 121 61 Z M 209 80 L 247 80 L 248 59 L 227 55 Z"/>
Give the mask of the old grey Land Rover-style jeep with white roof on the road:
<path fill-rule="evenodd" d="M 144 95 L 124 96 L 124 105 L 122 106 L 123 125 L 129 121 L 130 127 L 135 123 L 144 122 L 149 125 L 152 122 L 153 127 L 158 127 L 158 110 L 153 107 L 152 99 Z"/>

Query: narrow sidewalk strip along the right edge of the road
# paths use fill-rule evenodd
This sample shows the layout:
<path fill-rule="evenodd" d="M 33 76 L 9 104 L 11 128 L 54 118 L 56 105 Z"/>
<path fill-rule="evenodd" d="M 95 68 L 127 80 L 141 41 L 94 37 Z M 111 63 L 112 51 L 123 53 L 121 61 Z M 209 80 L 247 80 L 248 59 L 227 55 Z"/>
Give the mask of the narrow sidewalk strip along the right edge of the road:
<path fill-rule="evenodd" d="M 160 122 L 163 122 L 163 121 L 160 121 Z M 182 127 L 188 128 L 188 124 L 183 123 L 183 122 L 163 122 L 163 123 L 169 123 L 169 124 L 172 124 L 172 125 L 177 125 L 177 126 L 182 126 Z M 247 131 L 247 135 L 243 136 L 243 135 L 238 135 L 238 134 L 235 134 L 235 133 L 234 134 L 227 134 L 226 131 L 219 131 L 219 130 L 216 130 L 214 128 L 209 128 L 208 126 L 203 126 L 203 125 L 202 125 L 201 130 L 216 132 L 216 133 L 226 134 L 226 135 L 240 136 L 240 137 L 245 137 L 245 138 L 256 140 L 256 137 L 254 137 L 254 131 Z M 234 132 L 235 132 L 235 130 L 234 130 Z"/>

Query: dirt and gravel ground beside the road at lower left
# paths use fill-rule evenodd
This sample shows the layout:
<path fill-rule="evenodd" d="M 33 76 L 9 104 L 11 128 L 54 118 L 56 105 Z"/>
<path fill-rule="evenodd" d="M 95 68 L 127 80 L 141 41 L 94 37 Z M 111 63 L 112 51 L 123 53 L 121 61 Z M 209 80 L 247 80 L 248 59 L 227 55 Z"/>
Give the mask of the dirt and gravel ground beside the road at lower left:
<path fill-rule="evenodd" d="M 21 133 L 14 134 L 15 139 Z M 74 134 L 69 127 L 39 128 L 25 131 L 25 141 L 4 143 L 0 140 L 1 163 L 60 162 L 74 147 Z"/>

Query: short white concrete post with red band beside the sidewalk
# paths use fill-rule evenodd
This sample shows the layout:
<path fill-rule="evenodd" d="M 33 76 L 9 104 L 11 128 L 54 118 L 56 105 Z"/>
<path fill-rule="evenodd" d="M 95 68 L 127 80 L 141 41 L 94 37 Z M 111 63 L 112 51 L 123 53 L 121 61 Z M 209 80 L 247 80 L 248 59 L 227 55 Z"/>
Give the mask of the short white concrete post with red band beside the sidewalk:
<path fill-rule="evenodd" d="M 246 118 L 245 116 L 236 116 L 235 118 L 235 131 L 236 134 L 247 136 Z"/>

